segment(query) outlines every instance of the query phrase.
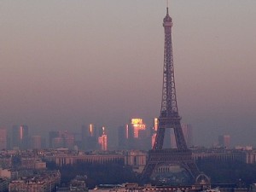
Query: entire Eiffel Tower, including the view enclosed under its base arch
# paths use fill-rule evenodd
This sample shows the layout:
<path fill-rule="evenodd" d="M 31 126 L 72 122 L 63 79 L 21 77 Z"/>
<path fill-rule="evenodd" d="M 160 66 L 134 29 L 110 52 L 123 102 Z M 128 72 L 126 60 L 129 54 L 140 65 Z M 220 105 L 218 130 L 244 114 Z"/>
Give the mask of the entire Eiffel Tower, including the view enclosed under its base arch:
<path fill-rule="evenodd" d="M 200 174 L 192 153 L 187 147 L 177 111 L 172 55 L 172 18 L 168 6 L 163 21 L 165 29 L 164 75 L 159 125 L 154 146 L 148 152 L 148 161 L 142 181 L 155 184 L 193 184 Z M 173 129 L 177 148 L 163 148 L 166 129 Z"/>

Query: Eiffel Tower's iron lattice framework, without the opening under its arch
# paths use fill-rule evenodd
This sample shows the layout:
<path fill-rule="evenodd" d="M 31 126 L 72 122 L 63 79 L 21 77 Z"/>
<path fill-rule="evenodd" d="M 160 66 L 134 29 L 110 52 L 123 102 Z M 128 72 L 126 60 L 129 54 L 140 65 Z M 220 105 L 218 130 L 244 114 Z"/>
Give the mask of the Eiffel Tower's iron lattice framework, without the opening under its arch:
<path fill-rule="evenodd" d="M 174 67 L 172 55 L 172 18 L 166 9 L 166 17 L 163 21 L 165 29 L 165 49 L 163 68 L 162 101 L 154 147 L 148 152 L 148 161 L 142 174 L 142 180 L 148 181 L 155 168 L 159 165 L 175 164 L 182 166 L 192 180 L 199 175 L 199 170 L 192 160 L 192 153 L 185 142 L 181 117 L 177 110 L 177 96 L 174 80 Z M 167 128 L 174 131 L 177 148 L 163 148 L 165 132 Z"/>

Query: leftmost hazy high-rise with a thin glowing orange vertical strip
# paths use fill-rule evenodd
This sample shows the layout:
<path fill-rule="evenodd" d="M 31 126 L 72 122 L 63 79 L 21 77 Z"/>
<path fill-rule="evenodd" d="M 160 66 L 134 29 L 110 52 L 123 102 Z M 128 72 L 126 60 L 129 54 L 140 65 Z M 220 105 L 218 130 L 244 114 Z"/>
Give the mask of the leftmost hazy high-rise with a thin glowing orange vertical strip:
<path fill-rule="evenodd" d="M 26 125 L 14 125 L 12 147 L 27 149 L 28 145 L 29 145 L 28 127 Z"/>

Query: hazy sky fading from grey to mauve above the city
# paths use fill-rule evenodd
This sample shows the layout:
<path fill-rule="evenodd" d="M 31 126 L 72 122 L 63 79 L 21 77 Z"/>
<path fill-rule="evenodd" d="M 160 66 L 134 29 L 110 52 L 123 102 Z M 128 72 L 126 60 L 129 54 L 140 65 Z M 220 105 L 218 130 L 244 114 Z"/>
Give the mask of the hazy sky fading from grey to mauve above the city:
<path fill-rule="evenodd" d="M 160 114 L 165 0 L 1 0 L 0 126 L 114 129 Z M 256 146 L 256 1 L 170 1 L 195 143 Z M 33 131 L 32 131 L 33 132 Z"/>

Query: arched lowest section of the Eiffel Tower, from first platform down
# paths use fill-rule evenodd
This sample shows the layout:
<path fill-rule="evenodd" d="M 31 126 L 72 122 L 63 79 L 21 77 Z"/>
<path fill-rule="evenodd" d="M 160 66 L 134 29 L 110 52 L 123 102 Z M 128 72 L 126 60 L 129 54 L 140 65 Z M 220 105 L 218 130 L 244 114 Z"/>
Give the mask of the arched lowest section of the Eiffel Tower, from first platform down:
<path fill-rule="evenodd" d="M 155 185 L 194 184 L 199 174 L 189 149 L 156 149 L 148 152 L 142 181 Z"/>

